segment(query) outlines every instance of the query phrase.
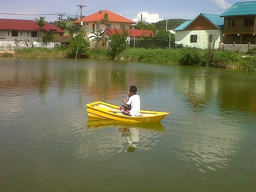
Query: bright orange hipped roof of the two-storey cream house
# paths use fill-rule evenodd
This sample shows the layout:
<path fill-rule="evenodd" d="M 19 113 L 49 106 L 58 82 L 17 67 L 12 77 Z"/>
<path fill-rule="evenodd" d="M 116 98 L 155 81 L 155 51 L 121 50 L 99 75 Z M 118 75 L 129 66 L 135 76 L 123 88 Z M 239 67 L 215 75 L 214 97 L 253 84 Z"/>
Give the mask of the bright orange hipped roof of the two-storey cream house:
<path fill-rule="evenodd" d="M 100 13 L 101 12 L 101 13 Z M 122 23 L 131 23 L 131 24 L 135 24 L 136 22 L 127 19 L 121 15 L 118 15 L 114 12 L 108 11 L 108 10 L 103 10 L 103 11 L 98 11 L 96 13 L 93 13 L 91 15 L 88 15 L 84 18 L 82 18 L 83 22 L 93 22 L 93 21 L 100 21 L 104 18 L 104 14 L 108 13 L 108 20 L 110 22 L 122 22 Z M 80 23 L 81 20 L 76 20 L 74 21 L 74 23 Z"/>

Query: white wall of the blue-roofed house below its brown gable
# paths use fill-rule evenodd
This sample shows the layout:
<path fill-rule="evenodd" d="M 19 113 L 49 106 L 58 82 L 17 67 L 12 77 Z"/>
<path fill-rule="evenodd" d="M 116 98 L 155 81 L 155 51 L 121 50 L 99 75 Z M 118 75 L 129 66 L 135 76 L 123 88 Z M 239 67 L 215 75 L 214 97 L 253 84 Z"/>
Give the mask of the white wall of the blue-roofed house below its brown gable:
<path fill-rule="evenodd" d="M 197 35 L 197 43 L 190 43 L 190 35 Z M 219 48 L 219 44 L 223 41 L 221 30 L 189 30 L 189 31 L 176 31 L 175 44 L 183 44 L 189 47 L 197 47 L 200 49 L 207 49 L 209 35 L 212 35 L 215 44 L 214 49 Z"/>

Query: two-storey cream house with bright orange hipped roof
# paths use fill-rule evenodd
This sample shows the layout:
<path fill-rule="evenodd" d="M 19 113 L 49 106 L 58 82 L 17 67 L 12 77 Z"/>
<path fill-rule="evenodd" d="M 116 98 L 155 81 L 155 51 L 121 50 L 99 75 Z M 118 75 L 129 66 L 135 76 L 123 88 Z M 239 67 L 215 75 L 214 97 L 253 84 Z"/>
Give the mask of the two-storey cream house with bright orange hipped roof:
<path fill-rule="evenodd" d="M 105 15 L 108 15 L 108 19 L 104 24 L 102 24 L 100 21 L 104 19 Z M 76 20 L 74 23 L 86 27 L 88 37 L 96 37 L 94 33 L 100 34 L 107 28 L 129 29 L 131 24 L 136 24 L 136 22 L 108 10 L 98 11 L 82 18 L 82 20 Z M 90 38 L 90 40 L 95 37 Z"/>

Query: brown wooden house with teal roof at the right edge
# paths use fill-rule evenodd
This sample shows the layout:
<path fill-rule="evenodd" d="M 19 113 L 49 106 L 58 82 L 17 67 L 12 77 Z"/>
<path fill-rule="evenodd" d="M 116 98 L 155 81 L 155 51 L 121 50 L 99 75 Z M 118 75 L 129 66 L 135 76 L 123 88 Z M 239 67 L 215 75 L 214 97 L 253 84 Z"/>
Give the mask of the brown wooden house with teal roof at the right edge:
<path fill-rule="evenodd" d="M 225 44 L 255 44 L 256 1 L 238 2 L 220 15 Z"/>

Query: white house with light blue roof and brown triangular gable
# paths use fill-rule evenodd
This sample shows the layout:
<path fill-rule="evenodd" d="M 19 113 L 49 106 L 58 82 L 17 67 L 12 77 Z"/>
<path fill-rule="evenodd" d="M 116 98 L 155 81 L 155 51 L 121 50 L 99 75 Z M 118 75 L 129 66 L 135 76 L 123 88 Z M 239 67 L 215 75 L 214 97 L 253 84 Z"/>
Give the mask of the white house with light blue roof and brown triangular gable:
<path fill-rule="evenodd" d="M 224 39 L 223 24 L 224 20 L 219 15 L 201 13 L 194 20 L 185 21 L 174 29 L 175 44 L 207 49 L 212 42 L 218 49 Z"/>

